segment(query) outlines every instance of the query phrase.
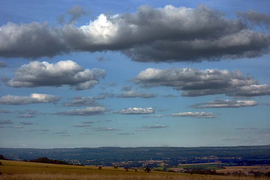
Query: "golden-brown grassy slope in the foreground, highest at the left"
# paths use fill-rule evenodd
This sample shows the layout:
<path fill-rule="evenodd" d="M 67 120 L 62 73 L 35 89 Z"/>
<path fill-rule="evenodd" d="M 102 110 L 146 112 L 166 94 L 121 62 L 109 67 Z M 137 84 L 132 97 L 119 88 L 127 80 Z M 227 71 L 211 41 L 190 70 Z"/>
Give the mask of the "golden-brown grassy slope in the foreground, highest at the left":
<path fill-rule="evenodd" d="M 254 177 L 205 176 L 143 170 L 43 164 L 1 160 L 0 180 L 253 180 Z M 256 178 L 269 180 L 269 178 Z"/>

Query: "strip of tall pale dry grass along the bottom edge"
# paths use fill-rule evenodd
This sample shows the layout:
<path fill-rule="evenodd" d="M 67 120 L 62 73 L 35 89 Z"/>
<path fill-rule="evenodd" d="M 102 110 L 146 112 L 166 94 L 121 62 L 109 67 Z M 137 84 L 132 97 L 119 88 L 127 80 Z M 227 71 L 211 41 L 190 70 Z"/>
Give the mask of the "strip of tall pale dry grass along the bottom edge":
<path fill-rule="evenodd" d="M 200 176 L 200 175 L 161 175 L 145 173 L 128 174 L 3 174 L 0 180 L 269 180 L 267 177 L 233 177 L 233 176 Z"/>

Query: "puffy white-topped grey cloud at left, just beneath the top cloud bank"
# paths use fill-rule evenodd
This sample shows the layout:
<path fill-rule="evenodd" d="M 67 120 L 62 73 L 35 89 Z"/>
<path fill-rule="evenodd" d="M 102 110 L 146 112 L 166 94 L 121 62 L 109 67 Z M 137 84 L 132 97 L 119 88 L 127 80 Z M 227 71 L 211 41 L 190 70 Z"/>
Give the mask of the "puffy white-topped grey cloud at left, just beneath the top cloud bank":
<path fill-rule="evenodd" d="M 22 65 L 16 71 L 15 77 L 6 84 L 15 88 L 69 85 L 71 89 L 85 90 L 93 88 L 99 83 L 99 78 L 104 78 L 105 75 L 105 70 L 84 70 L 70 60 L 55 64 L 31 61 L 28 65 Z"/>

